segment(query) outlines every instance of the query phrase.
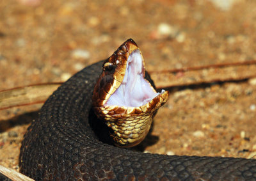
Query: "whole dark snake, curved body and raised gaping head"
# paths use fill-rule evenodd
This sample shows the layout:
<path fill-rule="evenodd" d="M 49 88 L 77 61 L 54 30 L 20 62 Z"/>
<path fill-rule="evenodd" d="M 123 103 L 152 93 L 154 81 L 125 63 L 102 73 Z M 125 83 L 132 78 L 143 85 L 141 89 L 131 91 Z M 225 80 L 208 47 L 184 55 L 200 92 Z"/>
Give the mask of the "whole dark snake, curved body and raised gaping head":
<path fill-rule="evenodd" d="M 168 98 L 154 87 L 138 45 L 125 41 L 47 99 L 24 135 L 20 172 L 35 180 L 256 180 L 255 159 L 128 148 L 145 138 Z"/>

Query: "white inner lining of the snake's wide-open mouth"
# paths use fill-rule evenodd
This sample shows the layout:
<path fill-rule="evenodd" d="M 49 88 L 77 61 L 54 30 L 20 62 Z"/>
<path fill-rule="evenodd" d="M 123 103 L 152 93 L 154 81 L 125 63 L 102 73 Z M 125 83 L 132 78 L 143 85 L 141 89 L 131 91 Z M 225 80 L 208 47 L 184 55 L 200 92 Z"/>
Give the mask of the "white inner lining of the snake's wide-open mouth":
<path fill-rule="evenodd" d="M 143 78 L 143 59 L 140 51 L 133 51 L 128 60 L 124 79 L 119 88 L 109 97 L 105 106 L 138 107 L 147 104 L 155 93 L 148 81 Z"/>

